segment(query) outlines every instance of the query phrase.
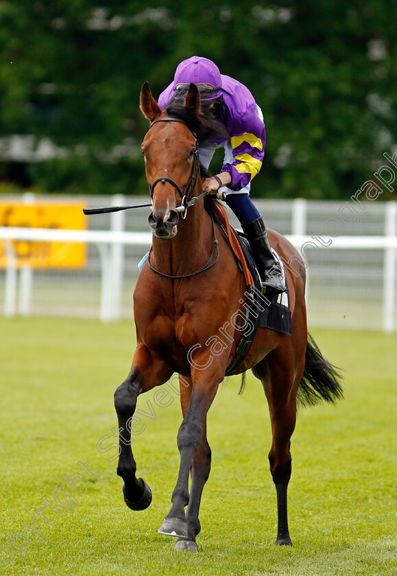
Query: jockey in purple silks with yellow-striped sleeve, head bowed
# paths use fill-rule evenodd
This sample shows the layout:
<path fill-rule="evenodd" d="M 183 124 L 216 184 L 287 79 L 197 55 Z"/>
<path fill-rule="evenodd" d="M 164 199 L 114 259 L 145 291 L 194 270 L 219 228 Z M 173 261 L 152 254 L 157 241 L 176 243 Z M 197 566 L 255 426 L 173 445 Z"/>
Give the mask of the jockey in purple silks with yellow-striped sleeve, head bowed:
<path fill-rule="evenodd" d="M 200 163 L 208 169 L 217 147 L 225 152 L 219 174 L 203 181 L 203 191 L 226 193 L 232 209 L 247 235 L 261 272 L 262 291 L 285 291 L 282 271 L 270 247 L 265 224 L 250 199 L 250 182 L 261 169 L 265 154 L 265 124 L 254 97 L 243 84 L 219 72 L 214 62 L 192 56 L 178 65 L 173 82 L 160 94 L 158 106 L 165 110 L 169 100 L 184 97 L 190 83 L 196 84 L 204 106 L 213 107 L 229 138 L 208 141 L 200 147 Z"/>

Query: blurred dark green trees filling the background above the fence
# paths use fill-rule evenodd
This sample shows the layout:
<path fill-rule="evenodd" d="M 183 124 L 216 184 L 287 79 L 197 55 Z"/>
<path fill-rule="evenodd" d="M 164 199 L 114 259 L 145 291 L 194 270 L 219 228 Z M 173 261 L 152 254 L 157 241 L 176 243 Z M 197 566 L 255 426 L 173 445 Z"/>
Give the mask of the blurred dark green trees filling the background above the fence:
<path fill-rule="evenodd" d="M 2 0 L 0 179 L 147 193 L 139 91 L 199 54 L 263 110 L 254 196 L 348 199 L 396 143 L 396 21 L 392 0 Z"/>

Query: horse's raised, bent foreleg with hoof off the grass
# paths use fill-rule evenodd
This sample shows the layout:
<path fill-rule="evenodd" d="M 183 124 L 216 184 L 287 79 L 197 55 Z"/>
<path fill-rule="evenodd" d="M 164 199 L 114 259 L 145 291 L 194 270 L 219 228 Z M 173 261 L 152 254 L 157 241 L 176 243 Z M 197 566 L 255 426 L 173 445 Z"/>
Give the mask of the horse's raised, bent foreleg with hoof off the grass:
<path fill-rule="evenodd" d="M 164 363 L 156 361 L 145 349 L 138 346 L 127 379 L 115 392 L 115 409 L 119 420 L 119 463 L 117 474 L 123 479 L 125 504 L 132 510 L 143 510 L 152 502 L 152 491 L 142 478 L 136 478 L 136 461 L 131 449 L 131 429 L 134 427 L 136 399 L 141 392 L 167 381 Z M 136 423 L 136 422 L 135 422 Z"/>

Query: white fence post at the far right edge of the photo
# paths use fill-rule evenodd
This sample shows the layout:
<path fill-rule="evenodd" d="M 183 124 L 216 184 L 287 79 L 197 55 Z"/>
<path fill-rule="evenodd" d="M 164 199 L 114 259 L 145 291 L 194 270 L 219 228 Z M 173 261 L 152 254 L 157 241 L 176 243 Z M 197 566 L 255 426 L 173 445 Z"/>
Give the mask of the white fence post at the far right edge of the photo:
<path fill-rule="evenodd" d="M 396 250 L 393 240 L 396 237 L 396 202 L 385 204 L 385 237 L 390 244 L 385 248 L 383 256 L 383 332 L 394 332 L 394 317 L 396 314 Z"/>

